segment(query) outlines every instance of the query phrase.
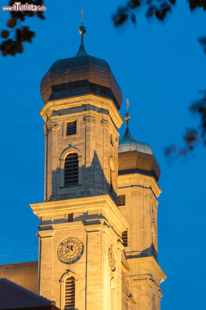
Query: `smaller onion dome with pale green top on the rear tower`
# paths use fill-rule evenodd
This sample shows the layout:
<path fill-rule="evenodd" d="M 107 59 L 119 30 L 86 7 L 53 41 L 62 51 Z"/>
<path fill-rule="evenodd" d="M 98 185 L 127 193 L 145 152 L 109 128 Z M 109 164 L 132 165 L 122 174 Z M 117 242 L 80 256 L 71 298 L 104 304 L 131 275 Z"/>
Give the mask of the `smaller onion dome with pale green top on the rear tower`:
<path fill-rule="evenodd" d="M 136 141 L 132 138 L 128 128 L 130 115 L 126 113 L 124 118 L 126 120 L 126 131 L 119 141 L 118 147 L 119 175 L 138 172 L 151 175 L 158 181 L 160 166 L 151 147 L 145 142 Z"/>

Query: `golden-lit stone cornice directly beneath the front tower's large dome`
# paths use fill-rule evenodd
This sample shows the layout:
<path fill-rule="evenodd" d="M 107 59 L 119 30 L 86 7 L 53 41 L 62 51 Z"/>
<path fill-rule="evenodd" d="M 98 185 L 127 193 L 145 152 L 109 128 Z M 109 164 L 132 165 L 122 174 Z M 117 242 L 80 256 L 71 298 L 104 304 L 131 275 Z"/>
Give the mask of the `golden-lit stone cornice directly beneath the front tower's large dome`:
<path fill-rule="evenodd" d="M 45 104 L 44 107 L 40 110 L 40 115 L 46 122 L 47 117 L 50 117 L 55 110 L 74 108 L 86 104 L 91 104 L 95 107 L 108 110 L 109 116 L 117 128 L 120 128 L 120 126 L 123 124 L 123 119 L 113 100 L 93 94 L 48 101 L 47 104 Z"/>

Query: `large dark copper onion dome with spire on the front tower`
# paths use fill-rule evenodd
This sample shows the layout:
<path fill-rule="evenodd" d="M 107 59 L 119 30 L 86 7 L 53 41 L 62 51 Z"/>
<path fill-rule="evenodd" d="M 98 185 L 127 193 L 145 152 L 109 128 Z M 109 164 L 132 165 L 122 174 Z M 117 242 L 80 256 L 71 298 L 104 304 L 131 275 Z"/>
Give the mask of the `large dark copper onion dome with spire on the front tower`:
<path fill-rule="evenodd" d="M 83 35 L 79 27 L 81 44 L 76 56 L 57 60 L 41 80 L 40 91 L 46 104 L 50 100 L 94 94 L 112 99 L 118 110 L 122 104 L 120 86 L 107 62 L 86 54 Z"/>

